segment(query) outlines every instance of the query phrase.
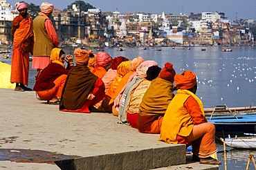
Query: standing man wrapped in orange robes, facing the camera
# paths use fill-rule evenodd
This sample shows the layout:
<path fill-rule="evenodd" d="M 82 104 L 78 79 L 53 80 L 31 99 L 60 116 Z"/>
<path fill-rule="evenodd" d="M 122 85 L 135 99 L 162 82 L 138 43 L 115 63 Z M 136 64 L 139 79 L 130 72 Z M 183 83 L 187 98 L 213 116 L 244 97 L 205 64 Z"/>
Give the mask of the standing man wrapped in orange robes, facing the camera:
<path fill-rule="evenodd" d="M 12 21 L 11 37 L 12 68 L 10 82 L 16 83 L 15 91 L 32 91 L 28 85 L 29 53 L 33 54 L 33 20 L 28 15 L 28 6 L 21 1 L 16 6 L 19 15 Z"/>

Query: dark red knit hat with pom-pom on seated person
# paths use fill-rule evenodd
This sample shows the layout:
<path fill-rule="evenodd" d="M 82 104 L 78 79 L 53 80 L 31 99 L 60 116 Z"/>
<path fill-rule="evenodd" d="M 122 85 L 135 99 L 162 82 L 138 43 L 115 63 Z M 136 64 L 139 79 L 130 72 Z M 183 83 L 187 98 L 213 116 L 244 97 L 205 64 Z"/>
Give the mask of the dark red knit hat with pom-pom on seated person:
<path fill-rule="evenodd" d="M 172 67 L 173 67 L 172 63 L 170 62 L 165 63 L 165 66 L 160 71 L 158 77 L 160 77 L 161 79 L 165 79 L 169 82 L 174 82 L 174 75 L 176 75 L 176 72 Z"/>

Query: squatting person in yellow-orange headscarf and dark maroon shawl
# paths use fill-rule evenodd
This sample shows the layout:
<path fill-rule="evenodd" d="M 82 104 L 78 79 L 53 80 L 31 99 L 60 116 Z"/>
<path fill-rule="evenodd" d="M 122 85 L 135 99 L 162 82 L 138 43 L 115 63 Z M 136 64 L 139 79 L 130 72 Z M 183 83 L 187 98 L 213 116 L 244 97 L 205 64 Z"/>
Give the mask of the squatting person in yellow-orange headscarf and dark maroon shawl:
<path fill-rule="evenodd" d="M 33 90 L 41 100 L 48 104 L 60 104 L 62 88 L 66 82 L 68 71 L 74 67 L 73 56 L 67 55 L 60 48 L 53 48 L 50 55 L 51 63 L 41 71 L 35 82 Z M 64 62 L 68 63 L 67 68 Z"/>

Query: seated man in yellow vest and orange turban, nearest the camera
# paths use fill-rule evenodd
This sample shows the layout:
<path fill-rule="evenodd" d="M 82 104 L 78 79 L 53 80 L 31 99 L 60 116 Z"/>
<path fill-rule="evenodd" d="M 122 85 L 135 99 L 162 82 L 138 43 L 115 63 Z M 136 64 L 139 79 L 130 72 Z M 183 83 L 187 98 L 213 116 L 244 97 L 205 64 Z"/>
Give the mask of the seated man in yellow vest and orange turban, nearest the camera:
<path fill-rule="evenodd" d="M 165 112 L 158 140 L 187 146 L 192 144 L 194 160 L 201 164 L 221 164 L 214 159 L 217 153 L 215 126 L 207 122 L 203 103 L 195 95 L 196 75 L 185 70 L 181 75 L 175 75 L 174 82 L 178 91 Z"/>

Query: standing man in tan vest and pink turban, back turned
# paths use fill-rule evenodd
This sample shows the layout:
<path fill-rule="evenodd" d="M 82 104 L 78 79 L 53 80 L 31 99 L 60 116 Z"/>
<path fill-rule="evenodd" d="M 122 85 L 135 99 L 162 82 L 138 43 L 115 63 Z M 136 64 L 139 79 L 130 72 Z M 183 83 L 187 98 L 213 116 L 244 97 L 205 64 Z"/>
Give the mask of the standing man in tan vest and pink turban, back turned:
<path fill-rule="evenodd" d="M 37 69 L 37 75 L 50 64 L 51 50 L 60 44 L 53 23 L 49 19 L 53 13 L 53 8 L 53 4 L 43 2 L 40 7 L 41 12 L 35 17 L 33 23 L 35 45 L 32 68 Z"/>

